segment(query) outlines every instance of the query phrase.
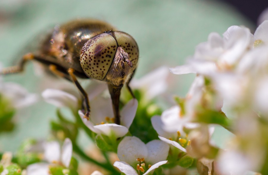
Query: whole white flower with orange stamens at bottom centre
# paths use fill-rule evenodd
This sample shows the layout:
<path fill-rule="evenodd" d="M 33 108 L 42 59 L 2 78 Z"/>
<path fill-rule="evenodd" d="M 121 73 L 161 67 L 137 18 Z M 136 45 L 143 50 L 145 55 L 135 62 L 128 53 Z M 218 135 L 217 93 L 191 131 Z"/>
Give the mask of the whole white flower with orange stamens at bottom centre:
<path fill-rule="evenodd" d="M 160 140 L 144 144 L 135 136 L 127 136 L 118 145 L 117 155 L 120 161 L 116 161 L 113 165 L 125 174 L 138 175 L 133 168 L 135 167 L 145 175 L 165 164 L 168 152 L 168 144 Z"/>

